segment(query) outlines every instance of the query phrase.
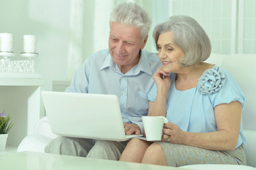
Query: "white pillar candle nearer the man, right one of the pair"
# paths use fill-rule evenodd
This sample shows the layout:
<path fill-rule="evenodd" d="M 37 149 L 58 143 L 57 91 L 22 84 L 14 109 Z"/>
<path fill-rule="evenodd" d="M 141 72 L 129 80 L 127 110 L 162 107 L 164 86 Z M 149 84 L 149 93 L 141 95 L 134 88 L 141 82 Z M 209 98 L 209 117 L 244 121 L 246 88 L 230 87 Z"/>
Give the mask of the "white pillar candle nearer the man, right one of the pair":
<path fill-rule="evenodd" d="M 35 53 L 35 35 L 23 35 L 23 52 Z"/>

